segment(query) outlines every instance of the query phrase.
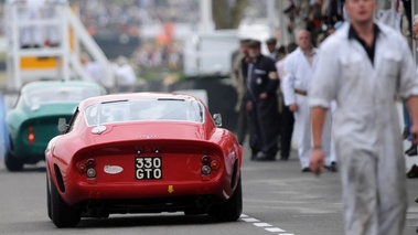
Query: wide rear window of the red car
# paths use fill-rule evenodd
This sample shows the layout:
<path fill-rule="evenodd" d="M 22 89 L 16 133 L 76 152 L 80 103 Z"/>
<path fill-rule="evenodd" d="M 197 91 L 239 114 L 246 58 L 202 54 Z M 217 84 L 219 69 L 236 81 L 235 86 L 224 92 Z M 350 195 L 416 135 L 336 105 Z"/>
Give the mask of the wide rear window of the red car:
<path fill-rule="evenodd" d="M 203 122 L 203 106 L 184 99 L 116 100 L 88 106 L 85 118 L 88 126 L 142 120 Z"/>

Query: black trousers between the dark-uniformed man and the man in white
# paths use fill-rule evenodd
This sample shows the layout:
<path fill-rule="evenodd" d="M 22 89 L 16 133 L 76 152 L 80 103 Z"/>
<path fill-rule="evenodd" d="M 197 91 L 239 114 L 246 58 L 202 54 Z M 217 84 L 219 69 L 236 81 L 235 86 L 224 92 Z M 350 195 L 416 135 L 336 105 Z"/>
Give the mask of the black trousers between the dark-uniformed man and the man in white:
<path fill-rule="evenodd" d="M 291 140 L 293 135 L 294 116 L 289 109 L 289 106 L 282 104 L 281 115 L 280 115 L 280 157 L 289 158 L 291 149 Z"/>

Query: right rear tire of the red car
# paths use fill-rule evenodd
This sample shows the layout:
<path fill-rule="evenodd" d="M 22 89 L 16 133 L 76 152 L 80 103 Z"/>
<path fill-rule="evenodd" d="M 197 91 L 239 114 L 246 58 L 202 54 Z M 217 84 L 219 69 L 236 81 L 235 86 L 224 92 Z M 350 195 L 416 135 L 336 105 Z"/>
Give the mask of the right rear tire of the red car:
<path fill-rule="evenodd" d="M 243 188 L 240 178 L 234 194 L 225 203 L 214 207 L 208 214 L 221 222 L 237 221 L 243 213 Z"/>

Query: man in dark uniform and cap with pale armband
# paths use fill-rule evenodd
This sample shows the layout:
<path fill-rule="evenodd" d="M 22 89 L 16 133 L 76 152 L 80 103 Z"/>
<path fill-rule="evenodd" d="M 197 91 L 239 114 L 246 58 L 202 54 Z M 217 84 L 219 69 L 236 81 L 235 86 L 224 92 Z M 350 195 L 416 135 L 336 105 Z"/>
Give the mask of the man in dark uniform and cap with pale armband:
<path fill-rule="evenodd" d="M 260 41 L 249 43 L 246 108 L 249 117 L 251 160 L 274 161 L 278 151 L 279 79 L 275 62 L 261 54 Z"/>

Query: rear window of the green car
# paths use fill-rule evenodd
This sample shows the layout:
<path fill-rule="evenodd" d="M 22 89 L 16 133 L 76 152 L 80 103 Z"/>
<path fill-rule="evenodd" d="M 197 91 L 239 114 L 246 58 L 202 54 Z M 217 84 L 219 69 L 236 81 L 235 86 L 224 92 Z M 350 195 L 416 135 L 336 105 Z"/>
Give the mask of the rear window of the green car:
<path fill-rule="evenodd" d="M 25 103 L 33 108 L 52 103 L 79 103 L 98 95 L 100 90 L 90 87 L 47 87 L 30 90 L 25 95 Z"/>

